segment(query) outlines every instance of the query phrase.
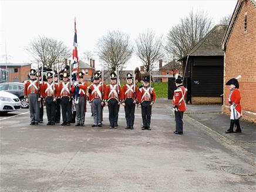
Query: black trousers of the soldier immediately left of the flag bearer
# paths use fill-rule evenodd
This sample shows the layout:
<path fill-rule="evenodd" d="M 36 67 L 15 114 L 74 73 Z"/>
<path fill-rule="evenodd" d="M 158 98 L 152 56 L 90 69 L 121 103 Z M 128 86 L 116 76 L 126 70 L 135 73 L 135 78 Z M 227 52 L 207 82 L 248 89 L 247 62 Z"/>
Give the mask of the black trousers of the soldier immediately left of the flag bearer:
<path fill-rule="evenodd" d="M 61 98 L 61 112 L 62 121 L 70 123 L 72 121 L 72 101 L 69 101 L 69 97 Z"/>

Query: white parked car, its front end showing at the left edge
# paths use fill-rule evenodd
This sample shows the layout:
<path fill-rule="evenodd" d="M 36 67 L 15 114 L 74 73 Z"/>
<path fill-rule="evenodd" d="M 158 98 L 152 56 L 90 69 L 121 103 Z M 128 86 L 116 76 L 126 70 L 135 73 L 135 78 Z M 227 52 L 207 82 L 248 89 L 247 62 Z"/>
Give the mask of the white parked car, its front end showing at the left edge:
<path fill-rule="evenodd" d="M 0 112 L 16 111 L 21 108 L 19 98 L 6 91 L 0 91 Z"/>

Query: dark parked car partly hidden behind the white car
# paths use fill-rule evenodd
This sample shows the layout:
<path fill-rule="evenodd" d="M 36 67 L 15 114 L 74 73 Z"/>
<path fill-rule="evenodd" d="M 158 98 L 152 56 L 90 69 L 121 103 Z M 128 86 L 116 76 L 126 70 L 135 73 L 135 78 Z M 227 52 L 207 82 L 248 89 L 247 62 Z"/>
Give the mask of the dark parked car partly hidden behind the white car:
<path fill-rule="evenodd" d="M 10 92 L 21 100 L 21 108 L 28 108 L 28 102 L 24 98 L 24 83 L 1 83 L 0 91 Z"/>

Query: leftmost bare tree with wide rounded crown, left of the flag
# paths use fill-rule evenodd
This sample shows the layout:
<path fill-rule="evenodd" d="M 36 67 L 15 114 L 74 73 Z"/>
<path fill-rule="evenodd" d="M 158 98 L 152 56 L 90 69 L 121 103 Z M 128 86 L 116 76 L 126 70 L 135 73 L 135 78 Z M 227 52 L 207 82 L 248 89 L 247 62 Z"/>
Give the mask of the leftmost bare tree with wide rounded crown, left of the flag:
<path fill-rule="evenodd" d="M 34 39 L 26 50 L 44 67 L 52 67 L 52 64 L 57 63 L 63 66 L 65 58 L 71 56 L 70 50 L 63 42 L 45 36 Z"/>

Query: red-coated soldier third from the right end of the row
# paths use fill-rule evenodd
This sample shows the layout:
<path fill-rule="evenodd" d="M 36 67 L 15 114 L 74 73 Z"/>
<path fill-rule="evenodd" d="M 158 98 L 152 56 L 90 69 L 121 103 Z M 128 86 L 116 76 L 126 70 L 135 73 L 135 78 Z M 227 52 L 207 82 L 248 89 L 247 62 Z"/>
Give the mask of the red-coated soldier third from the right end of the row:
<path fill-rule="evenodd" d="M 109 128 L 117 129 L 118 113 L 120 104 L 122 101 L 121 86 L 117 86 L 116 73 L 110 73 L 110 85 L 107 85 L 104 92 L 104 101 L 107 107 L 109 107 Z"/>

